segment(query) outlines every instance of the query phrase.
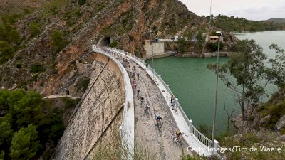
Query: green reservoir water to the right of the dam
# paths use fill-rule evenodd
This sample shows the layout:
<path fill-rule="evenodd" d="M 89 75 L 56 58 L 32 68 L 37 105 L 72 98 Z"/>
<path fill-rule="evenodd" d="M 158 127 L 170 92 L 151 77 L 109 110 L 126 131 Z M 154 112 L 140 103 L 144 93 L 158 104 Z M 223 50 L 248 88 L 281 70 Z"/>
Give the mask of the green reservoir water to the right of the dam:
<path fill-rule="evenodd" d="M 269 58 L 274 57 L 274 52 L 269 51 L 271 43 L 277 43 L 285 48 L 285 31 L 264 31 L 257 33 L 239 33 L 239 39 L 254 39 L 264 48 L 264 53 Z M 227 63 L 227 58 L 221 58 L 221 63 Z M 216 63 L 217 58 L 157 58 L 154 60 L 154 68 L 165 82 L 170 85 L 170 89 L 178 97 L 180 105 L 193 120 L 195 126 L 207 124 L 212 126 L 214 92 L 216 85 L 216 75 L 207 69 L 208 63 Z M 147 63 L 152 65 L 152 60 Z M 276 90 L 276 87 L 267 87 L 269 94 Z M 264 98 L 266 101 L 268 98 Z M 219 81 L 218 100 L 217 100 L 217 132 L 227 131 L 227 113 L 224 105 L 229 112 L 234 107 L 234 92 L 229 90 Z M 235 106 L 234 116 L 240 113 L 239 105 Z M 233 116 L 233 117 L 234 117 Z M 233 131 L 233 126 L 230 125 Z"/>

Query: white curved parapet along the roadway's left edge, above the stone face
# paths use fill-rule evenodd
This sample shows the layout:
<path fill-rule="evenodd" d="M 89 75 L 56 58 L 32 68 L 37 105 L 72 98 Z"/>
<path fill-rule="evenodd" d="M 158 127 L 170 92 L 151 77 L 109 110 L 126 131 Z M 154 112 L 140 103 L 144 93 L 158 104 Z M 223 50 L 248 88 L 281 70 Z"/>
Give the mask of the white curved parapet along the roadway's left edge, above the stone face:
<path fill-rule="evenodd" d="M 128 155 L 123 157 L 124 159 L 133 159 L 134 157 L 134 147 L 135 147 L 135 110 L 134 110 L 134 102 L 133 102 L 133 90 L 130 84 L 130 78 L 128 76 L 127 71 L 113 55 L 108 52 L 108 50 L 104 50 L 103 48 L 96 48 L 95 45 L 92 46 L 92 50 L 94 52 L 103 54 L 109 58 L 111 58 L 120 68 L 120 72 L 123 75 L 123 80 L 125 83 L 125 103 L 124 112 L 123 112 L 123 121 L 120 126 L 120 138 L 122 142 L 122 146 L 128 151 Z"/>

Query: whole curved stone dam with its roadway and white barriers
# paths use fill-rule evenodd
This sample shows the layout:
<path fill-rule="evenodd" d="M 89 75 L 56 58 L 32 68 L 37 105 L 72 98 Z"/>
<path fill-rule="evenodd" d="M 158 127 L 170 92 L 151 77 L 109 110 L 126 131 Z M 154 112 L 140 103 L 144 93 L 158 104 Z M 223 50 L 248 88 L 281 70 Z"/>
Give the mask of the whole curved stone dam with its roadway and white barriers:
<path fill-rule="evenodd" d="M 204 137 L 188 119 L 177 102 L 171 110 L 169 86 L 154 69 L 146 68 L 144 61 L 128 56 L 115 48 L 92 46 L 94 61 L 88 89 L 78 102 L 68 122 L 52 159 L 93 159 L 104 143 L 110 143 L 120 134 L 123 147 L 130 151 L 124 159 L 134 159 L 135 151 L 144 148 L 154 151 L 158 159 L 177 159 L 182 151 L 186 154 L 210 156 L 212 141 Z M 128 65 L 123 66 L 123 59 Z M 136 68 L 140 75 L 138 87 L 150 106 L 150 115 L 143 114 L 142 106 L 130 84 L 130 70 Z M 162 117 L 162 130 L 154 124 L 155 117 Z M 175 131 L 183 132 L 182 146 L 173 143 Z M 219 147 L 215 141 L 214 148 Z M 218 153 L 217 153 L 218 154 Z"/>

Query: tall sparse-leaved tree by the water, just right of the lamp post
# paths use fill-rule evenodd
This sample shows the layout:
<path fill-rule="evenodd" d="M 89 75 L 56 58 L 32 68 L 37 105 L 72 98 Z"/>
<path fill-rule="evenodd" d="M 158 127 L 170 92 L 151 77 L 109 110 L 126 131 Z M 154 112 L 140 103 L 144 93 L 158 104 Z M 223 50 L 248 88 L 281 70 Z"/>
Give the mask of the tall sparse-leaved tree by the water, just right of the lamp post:
<path fill-rule="evenodd" d="M 246 119 L 248 107 L 250 106 L 253 112 L 259 104 L 260 97 L 266 93 L 265 87 L 269 82 L 266 78 L 267 68 L 264 65 L 266 55 L 254 40 L 239 41 L 235 50 L 239 53 L 230 55 L 228 63 L 219 67 L 219 78 L 227 87 L 234 90 L 242 117 Z M 217 64 L 207 67 L 215 70 L 216 66 Z"/>

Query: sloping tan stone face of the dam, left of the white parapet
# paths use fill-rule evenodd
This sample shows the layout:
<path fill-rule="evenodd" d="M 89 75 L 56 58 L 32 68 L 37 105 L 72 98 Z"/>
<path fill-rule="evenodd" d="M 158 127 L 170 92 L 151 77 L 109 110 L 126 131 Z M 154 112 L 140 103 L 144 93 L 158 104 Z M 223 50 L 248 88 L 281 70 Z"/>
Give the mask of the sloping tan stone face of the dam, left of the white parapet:
<path fill-rule="evenodd" d="M 112 59 L 98 53 L 93 69 L 88 89 L 51 159 L 92 159 L 104 139 L 120 132 L 125 101 L 123 75 Z"/>

